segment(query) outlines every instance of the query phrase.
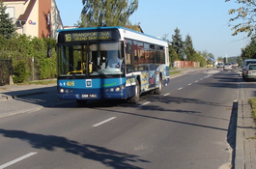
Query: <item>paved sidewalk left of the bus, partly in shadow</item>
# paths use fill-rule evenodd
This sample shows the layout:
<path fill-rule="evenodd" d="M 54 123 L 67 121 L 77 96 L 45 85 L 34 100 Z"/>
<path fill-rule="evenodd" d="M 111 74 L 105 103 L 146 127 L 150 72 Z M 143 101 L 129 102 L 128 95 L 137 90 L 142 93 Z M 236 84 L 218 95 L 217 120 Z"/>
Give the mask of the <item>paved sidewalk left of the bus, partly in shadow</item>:
<path fill-rule="evenodd" d="M 0 118 L 50 107 L 56 93 L 56 84 L 0 86 Z"/>

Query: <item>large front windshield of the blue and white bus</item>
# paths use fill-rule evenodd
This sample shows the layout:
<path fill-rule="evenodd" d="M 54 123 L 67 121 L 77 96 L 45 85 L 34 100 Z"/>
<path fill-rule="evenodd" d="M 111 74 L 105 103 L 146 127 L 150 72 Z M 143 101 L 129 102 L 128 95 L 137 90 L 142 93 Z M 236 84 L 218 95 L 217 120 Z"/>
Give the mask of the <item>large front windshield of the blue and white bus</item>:
<path fill-rule="evenodd" d="M 58 76 L 90 78 L 124 74 L 121 42 L 81 42 L 58 46 Z"/>

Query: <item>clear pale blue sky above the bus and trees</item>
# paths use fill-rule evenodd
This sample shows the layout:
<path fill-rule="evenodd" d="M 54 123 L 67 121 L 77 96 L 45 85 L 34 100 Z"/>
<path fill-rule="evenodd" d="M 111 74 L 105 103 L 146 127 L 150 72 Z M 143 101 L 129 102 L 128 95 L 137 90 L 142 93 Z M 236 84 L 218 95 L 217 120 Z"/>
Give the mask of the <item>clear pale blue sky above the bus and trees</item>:
<path fill-rule="evenodd" d="M 64 26 L 73 26 L 80 20 L 82 0 L 55 0 Z M 235 0 L 138 0 L 137 11 L 130 15 L 132 24 L 140 23 L 145 34 L 163 37 L 172 41 L 174 30 L 178 28 L 183 41 L 189 35 L 196 51 L 213 53 L 218 57 L 241 55 L 247 44 L 246 34 L 232 36 L 228 14 L 230 9 L 238 9 Z M 230 22 L 231 24 L 234 24 Z"/>

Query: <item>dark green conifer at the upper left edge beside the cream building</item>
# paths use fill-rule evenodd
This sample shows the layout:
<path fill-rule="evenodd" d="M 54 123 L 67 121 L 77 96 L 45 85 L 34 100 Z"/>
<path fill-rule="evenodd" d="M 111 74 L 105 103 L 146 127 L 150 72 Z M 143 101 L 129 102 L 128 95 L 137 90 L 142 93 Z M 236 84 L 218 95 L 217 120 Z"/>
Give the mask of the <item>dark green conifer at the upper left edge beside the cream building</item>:
<path fill-rule="evenodd" d="M 6 7 L 2 0 L 0 0 L 0 35 L 10 39 L 15 32 L 15 25 L 9 14 L 6 14 Z"/>

